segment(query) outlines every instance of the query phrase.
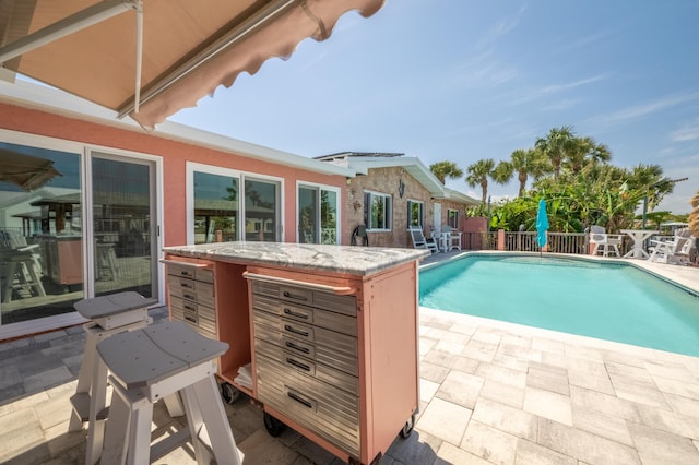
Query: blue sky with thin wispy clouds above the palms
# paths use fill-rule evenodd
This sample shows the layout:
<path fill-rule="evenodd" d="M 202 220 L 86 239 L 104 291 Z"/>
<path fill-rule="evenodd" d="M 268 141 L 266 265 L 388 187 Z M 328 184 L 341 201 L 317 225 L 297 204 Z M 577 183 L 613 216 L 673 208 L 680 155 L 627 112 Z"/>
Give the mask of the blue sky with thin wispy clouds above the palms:
<path fill-rule="evenodd" d="M 171 120 L 313 157 L 399 152 L 426 166 L 509 159 L 572 126 L 612 163 L 657 164 L 699 189 L 699 1 L 387 0 L 350 12 Z M 463 179 L 447 184 L 475 198 Z M 490 183 L 494 200 L 517 183 Z"/>

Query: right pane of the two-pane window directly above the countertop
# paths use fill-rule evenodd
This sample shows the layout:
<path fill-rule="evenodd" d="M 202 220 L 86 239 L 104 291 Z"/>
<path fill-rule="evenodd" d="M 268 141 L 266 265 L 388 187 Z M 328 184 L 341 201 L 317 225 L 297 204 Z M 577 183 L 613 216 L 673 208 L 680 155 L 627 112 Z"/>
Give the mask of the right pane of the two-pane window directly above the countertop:
<path fill-rule="evenodd" d="M 245 239 L 279 240 L 279 182 L 245 180 Z"/>

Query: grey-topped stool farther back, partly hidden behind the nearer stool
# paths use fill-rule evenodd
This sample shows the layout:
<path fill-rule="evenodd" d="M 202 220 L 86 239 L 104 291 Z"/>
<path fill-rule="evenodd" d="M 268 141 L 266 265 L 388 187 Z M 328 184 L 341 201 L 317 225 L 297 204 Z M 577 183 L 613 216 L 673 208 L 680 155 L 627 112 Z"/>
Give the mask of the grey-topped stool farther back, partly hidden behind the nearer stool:
<path fill-rule="evenodd" d="M 75 394 L 70 398 L 73 413 L 68 426 L 69 431 L 79 431 L 88 419 L 90 397 L 95 395 L 93 378 L 97 363 L 97 343 L 122 331 L 145 327 L 153 321 L 149 317 L 147 308 L 154 303 L 157 303 L 157 300 L 146 299 L 133 291 L 99 296 L 75 302 L 75 310 L 83 318 L 92 321 L 83 324 L 83 329 L 87 333 L 87 341 L 78 374 L 78 388 Z M 106 383 L 107 373 L 103 373 L 103 377 Z M 100 395 L 104 396 L 105 393 L 100 393 Z M 97 418 L 100 420 L 104 420 L 106 412 L 97 413 Z"/>

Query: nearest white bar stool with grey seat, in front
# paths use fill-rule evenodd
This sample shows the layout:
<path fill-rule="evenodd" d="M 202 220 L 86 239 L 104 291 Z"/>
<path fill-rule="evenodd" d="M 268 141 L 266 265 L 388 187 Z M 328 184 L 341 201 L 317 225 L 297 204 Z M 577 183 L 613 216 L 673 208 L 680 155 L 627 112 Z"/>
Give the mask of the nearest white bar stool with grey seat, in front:
<path fill-rule="evenodd" d="M 220 464 L 239 465 L 239 453 L 226 417 L 214 373 L 214 360 L 228 344 L 209 339 L 182 322 L 165 322 L 120 333 L 97 344 L 97 372 L 111 372 L 110 414 L 102 438 L 90 430 L 87 463 L 102 449 L 102 465 L 145 464 L 191 439 L 198 464 L 211 455 Z M 102 378 L 95 377 L 94 382 Z M 102 389 L 99 390 L 102 392 Z M 151 445 L 153 403 L 179 393 L 187 427 Z M 91 400 L 91 421 L 104 408 L 104 397 Z"/>

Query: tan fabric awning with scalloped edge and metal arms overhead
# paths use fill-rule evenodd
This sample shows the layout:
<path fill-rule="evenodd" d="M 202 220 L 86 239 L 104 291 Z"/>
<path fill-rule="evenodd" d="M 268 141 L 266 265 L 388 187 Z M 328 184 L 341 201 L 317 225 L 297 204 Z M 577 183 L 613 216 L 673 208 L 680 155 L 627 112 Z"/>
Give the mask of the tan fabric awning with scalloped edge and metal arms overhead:
<path fill-rule="evenodd" d="M 0 0 L 4 68 L 152 129 L 383 0 Z M 140 75 L 140 79 L 138 76 Z M 137 85 L 138 80 L 138 85 Z M 138 111 L 135 111 L 138 107 Z"/>

